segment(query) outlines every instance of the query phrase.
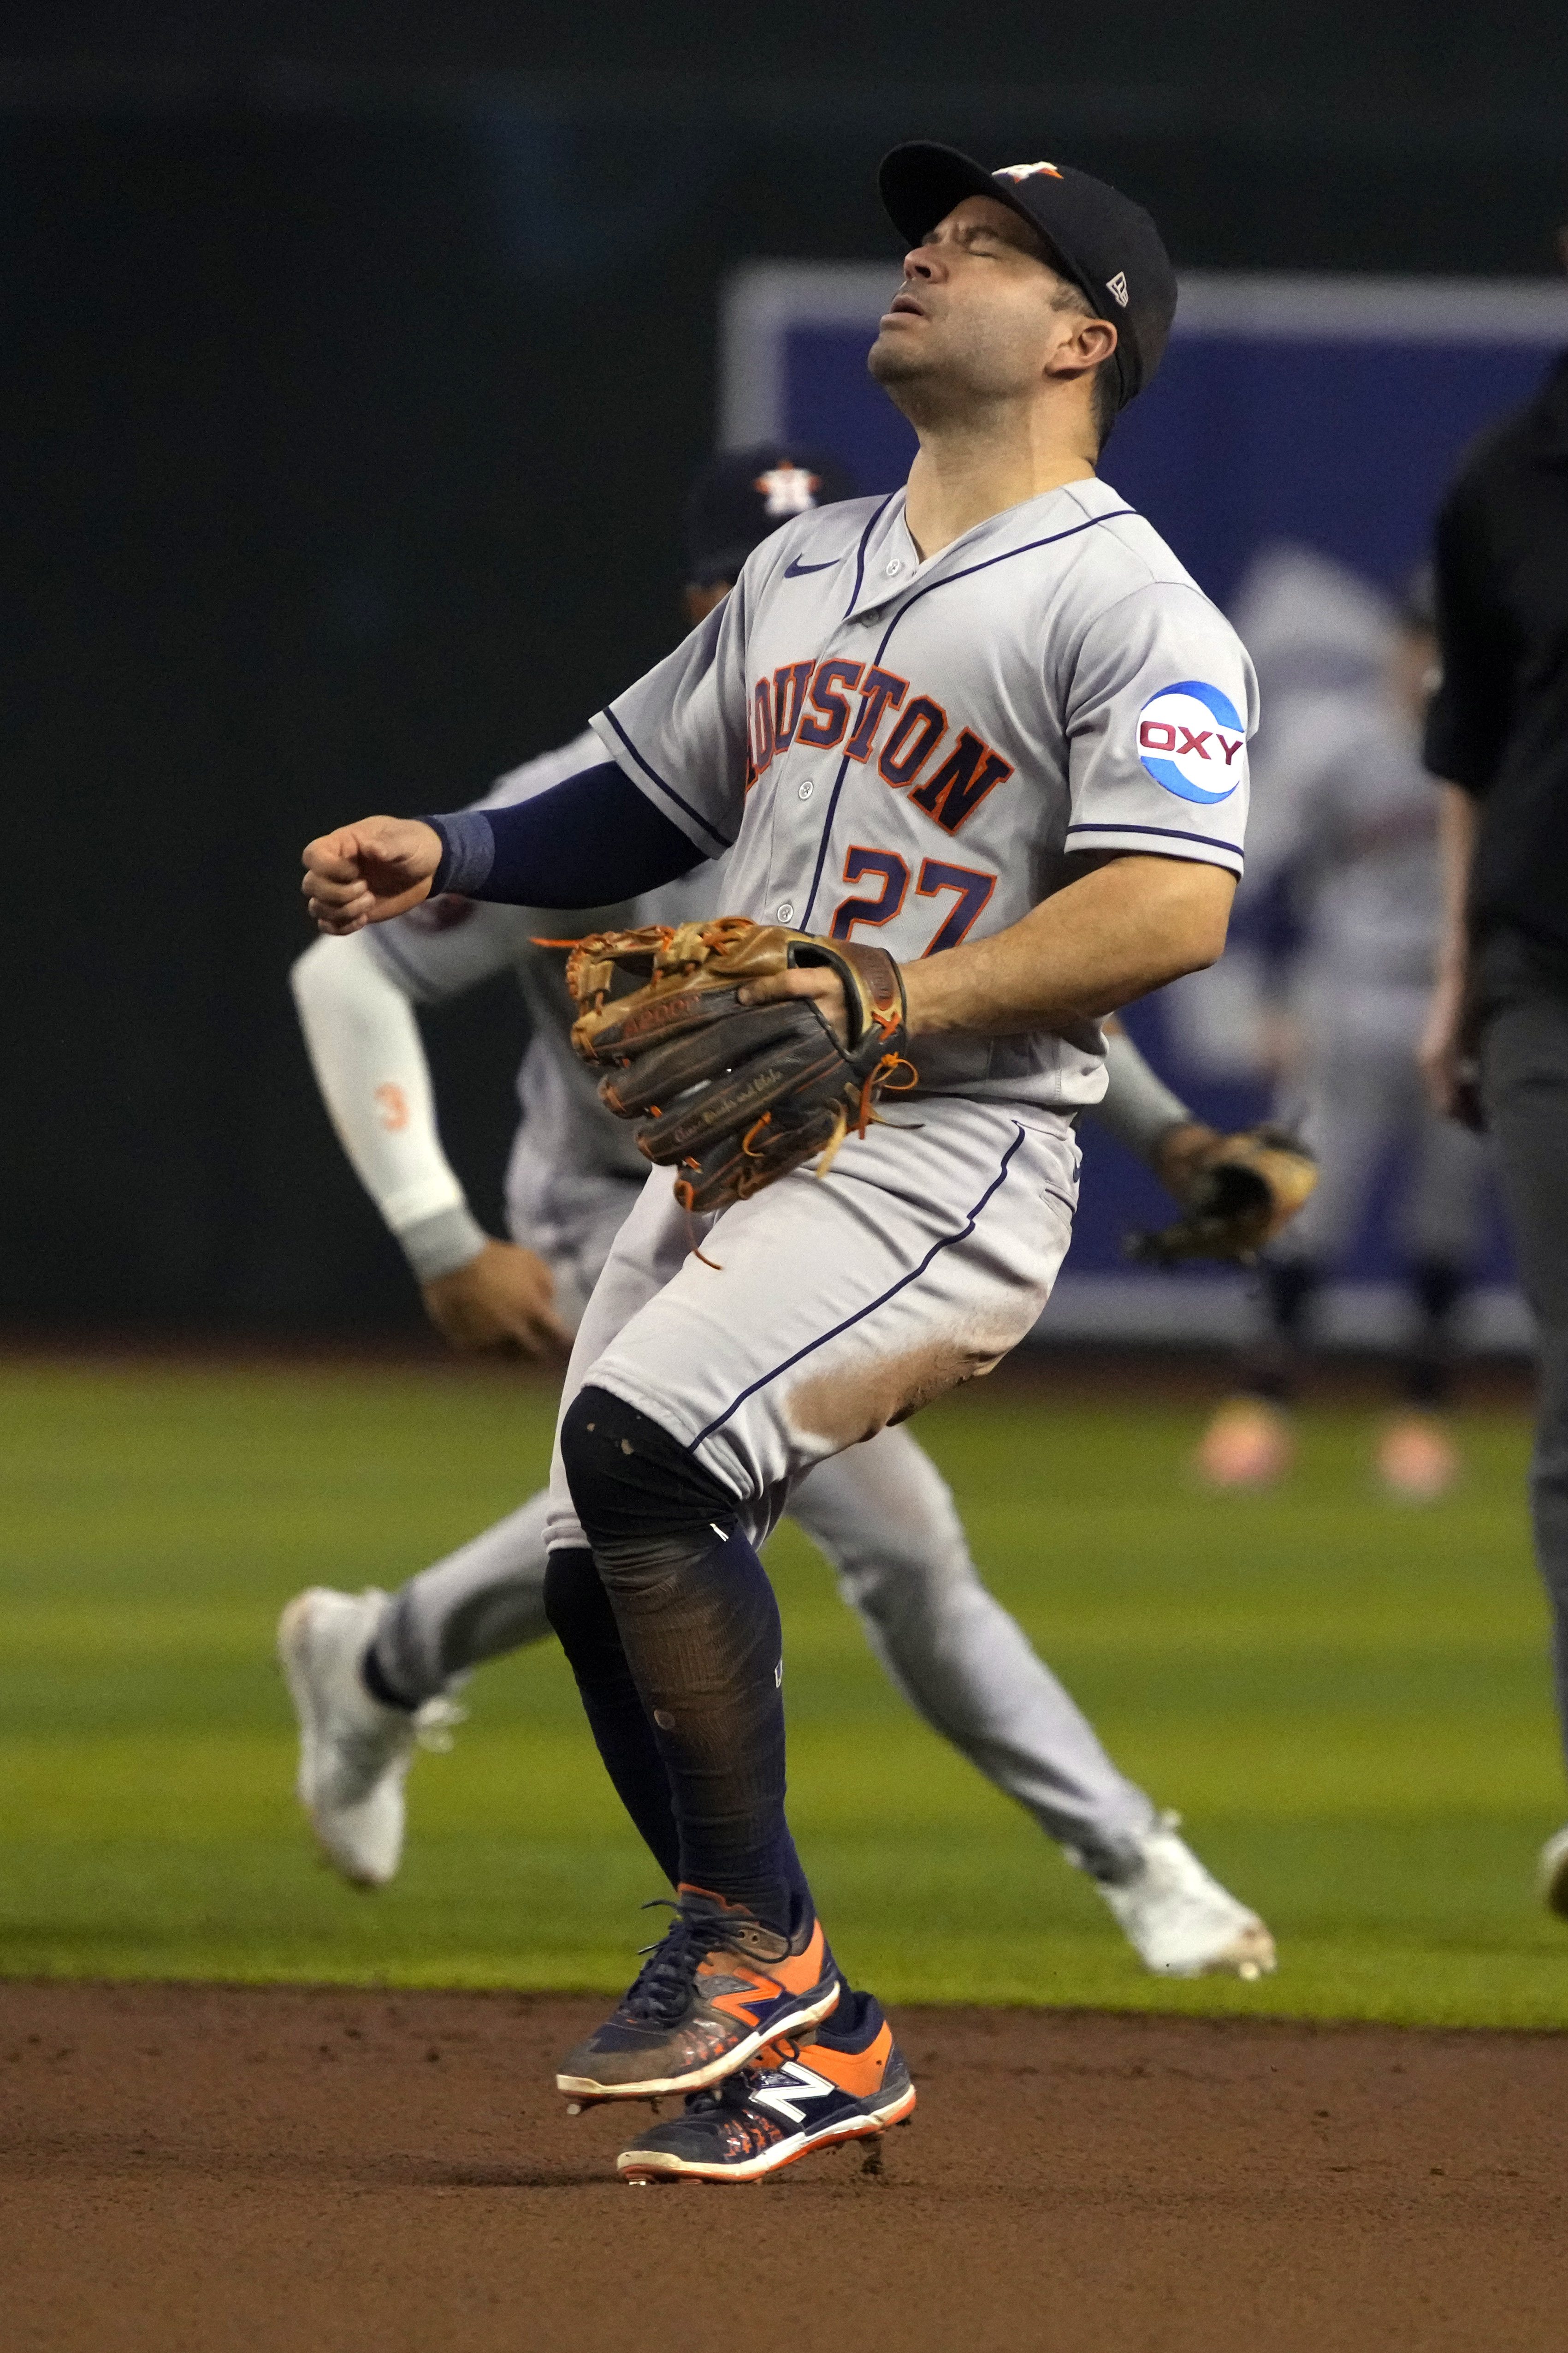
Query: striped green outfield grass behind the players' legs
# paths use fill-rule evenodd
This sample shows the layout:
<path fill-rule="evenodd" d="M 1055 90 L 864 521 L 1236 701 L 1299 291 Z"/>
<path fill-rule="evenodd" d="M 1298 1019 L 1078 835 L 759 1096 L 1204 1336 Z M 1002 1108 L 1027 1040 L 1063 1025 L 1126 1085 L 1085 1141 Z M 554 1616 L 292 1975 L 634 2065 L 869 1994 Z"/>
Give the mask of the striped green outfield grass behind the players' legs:
<path fill-rule="evenodd" d="M 484 1671 L 411 1781 L 395 1887 L 292 1802 L 273 1624 L 395 1584 L 541 1478 L 550 1393 L 378 1369 L 0 1369 L 0 1972 L 618 1991 L 661 1892 L 552 1645 Z M 811 1548 L 778 1579 L 792 1819 L 835 1946 L 896 2000 L 1568 2024 L 1537 1911 L 1563 1814 L 1521 1419 L 1408 1511 L 1368 1424 L 1286 1494 L 1182 1482 L 1197 1417 L 980 1384 L 919 1435 L 978 1560 L 1119 1762 L 1281 1941 L 1265 1986 L 1140 1972 L 1093 1889 L 886 1687 Z M 654 1925 L 658 1915 L 654 1915 Z"/>

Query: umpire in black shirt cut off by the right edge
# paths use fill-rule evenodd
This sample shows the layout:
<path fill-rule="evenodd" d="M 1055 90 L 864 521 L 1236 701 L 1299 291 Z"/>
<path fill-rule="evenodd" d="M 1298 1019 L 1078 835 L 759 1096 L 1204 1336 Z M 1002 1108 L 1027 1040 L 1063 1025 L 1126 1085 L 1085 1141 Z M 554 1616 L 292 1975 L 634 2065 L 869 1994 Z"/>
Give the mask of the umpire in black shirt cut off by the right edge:
<path fill-rule="evenodd" d="M 1561 235 L 1568 264 L 1568 231 Z M 1568 353 L 1472 449 L 1436 525 L 1446 932 L 1422 1068 L 1490 1127 L 1540 1334 L 1530 1501 L 1568 1737 Z M 1568 1828 L 1540 1889 L 1568 1918 Z"/>

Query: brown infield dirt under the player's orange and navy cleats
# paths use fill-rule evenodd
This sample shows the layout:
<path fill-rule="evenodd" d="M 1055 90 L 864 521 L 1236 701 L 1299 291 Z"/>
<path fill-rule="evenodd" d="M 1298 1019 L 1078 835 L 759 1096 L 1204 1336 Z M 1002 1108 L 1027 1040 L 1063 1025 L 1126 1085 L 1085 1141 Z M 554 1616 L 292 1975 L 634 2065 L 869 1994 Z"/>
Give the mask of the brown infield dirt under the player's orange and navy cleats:
<path fill-rule="evenodd" d="M 628 2191 L 602 2007 L 0 1986 L 7 2353 L 1566 2341 L 1563 2038 L 905 2009 L 879 2177 Z"/>

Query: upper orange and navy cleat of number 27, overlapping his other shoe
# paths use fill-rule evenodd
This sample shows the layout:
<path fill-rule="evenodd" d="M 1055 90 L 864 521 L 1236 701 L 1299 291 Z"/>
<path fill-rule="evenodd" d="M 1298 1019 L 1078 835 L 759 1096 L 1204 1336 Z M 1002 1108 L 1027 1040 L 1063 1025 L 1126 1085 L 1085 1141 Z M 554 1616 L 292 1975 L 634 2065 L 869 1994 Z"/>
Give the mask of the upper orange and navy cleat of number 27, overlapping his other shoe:
<path fill-rule="evenodd" d="M 743 1904 L 682 1885 L 668 1934 L 604 2026 L 562 2059 L 555 2085 L 581 2106 L 701 2092 L 764 2042 L 816 2026 L 839 1991 L 811 1911 L 780 1937 Z"/>

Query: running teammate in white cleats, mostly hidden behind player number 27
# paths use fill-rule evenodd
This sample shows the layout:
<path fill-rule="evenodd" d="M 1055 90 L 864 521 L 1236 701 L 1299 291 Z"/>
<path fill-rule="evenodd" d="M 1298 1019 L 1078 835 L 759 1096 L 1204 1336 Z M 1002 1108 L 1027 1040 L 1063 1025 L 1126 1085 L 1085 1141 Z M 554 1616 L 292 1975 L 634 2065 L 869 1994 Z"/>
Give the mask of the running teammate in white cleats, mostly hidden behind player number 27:
<path fill-rule="evenodd" d="M 752 546 L 783 520 L 849 494 L 820 456 L 797 464 L 783 447 L 759 447 L 717 459 L 689 506 L 689 619 L 712 612 Z M 548 791 L 595 755 L 595 736 L 545 753 L 503 776 L 480 807 Z M 614 920 L 715 913 L 719 875 L 719 864 L 698 866 Z M 456 1346 L 512 1341 L 541 1353 L 569 1341 L 646 1181 L 628 1125 L 604 1111 L 571 1052 L 562 958 L 534 944 L 538 932 L 562 936 L 604 920 L 607 911 L 562 918 L 442 899 L 353 939 L 322 939 L 294 967 L 310 1059 L 343 1148 Z M 473 1219 L 440 1148 L 411 1005 L 454 998 L 505 969 L 522 984 L 531 1042 L 505 1186 L 512 1240 L 498 1242 Z M 1194 1148 L 1213 1141 L 1126 1038 L 1112 1047 L 1107 1118 L 1175 1186 Z M 284 1612 L 282 1657 L 301 1715 L 299 1793 L 346 1878 L 378 1885 L 397 1871 L 402 1779 L 416 1739 L 444 1739 L 456 1715 L 451 1682 L 550 1631 L 545 1506 L 545 1494 L 534 1497 L 390 1600 L 313 1588 Z M 832 1560 L 893 1682 L 1091 1873 L 1147 1967 L 1255 1977 L 1274 1965 L 1262 1922 L 1201 1868 L 1173 1817 L 1117 1772 L 1023 1628 L 985 1591 L 952 1497 L 905 1428 L 813 1468 L 790 1511 Z"/>

